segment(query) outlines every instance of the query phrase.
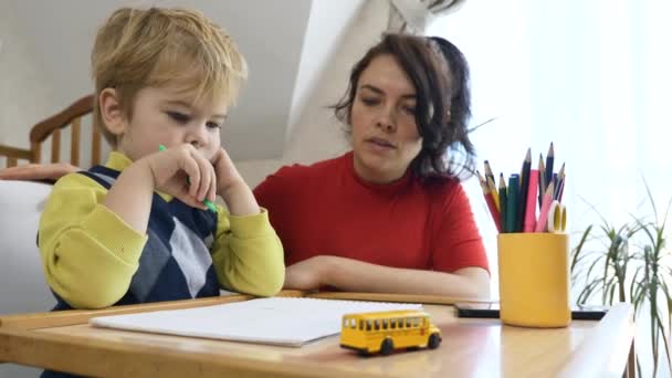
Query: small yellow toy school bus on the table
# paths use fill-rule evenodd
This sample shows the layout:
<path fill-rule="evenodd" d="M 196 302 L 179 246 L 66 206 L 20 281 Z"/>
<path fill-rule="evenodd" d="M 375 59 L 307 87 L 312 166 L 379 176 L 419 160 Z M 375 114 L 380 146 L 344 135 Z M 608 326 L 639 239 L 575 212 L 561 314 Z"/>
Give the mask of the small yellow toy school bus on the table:
<path fill-rule="evenodd" d="M 421 311 L 346 314 L 340 325 L 340 346 L 361 355 L 389 355 L 398 348 L 434 349 L 439 344 L 441 330 Z"/>

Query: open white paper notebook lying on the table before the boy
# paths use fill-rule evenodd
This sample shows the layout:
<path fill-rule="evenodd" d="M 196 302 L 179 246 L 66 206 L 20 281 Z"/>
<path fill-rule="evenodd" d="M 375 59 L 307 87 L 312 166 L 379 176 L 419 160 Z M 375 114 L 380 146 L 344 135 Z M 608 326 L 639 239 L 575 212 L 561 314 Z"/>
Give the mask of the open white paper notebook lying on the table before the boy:
<path fill-rule="evenodd" d="M 421 309 L 420 304 L 271 297 L 214 306 L 101 316 L 97 327 L 302 346 L 340 333 L 344 314 Z"/>

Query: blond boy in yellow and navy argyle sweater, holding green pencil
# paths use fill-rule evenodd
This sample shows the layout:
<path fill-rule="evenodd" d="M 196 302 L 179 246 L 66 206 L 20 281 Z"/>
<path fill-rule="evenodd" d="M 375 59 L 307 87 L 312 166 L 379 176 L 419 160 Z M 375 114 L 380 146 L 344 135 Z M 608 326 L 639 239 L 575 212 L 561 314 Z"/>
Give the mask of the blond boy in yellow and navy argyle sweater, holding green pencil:
<path fill-rule="evenodd" d="M 220 146 L 246 77 L 231 38 L 196 11 L 124 8 L 98 31 L 92 70 L 114 151 L 59 180 L 42 214 L 56 309 L 277 293 L 282 245 Z M 216 195 L 230 214 L 203 204 Z"/>

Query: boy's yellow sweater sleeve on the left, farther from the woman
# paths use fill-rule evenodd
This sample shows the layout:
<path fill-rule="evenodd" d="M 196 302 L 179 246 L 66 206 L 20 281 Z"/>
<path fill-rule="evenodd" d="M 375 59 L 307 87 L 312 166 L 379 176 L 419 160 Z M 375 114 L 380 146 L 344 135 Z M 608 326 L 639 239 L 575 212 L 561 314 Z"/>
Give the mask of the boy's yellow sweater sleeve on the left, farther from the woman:
<path fill-rule="evenodd" d="M 83 175 L 65 176 L 40 219 L 46 283 L 73 308 L 101 308 L 120 300 L 147 242 L 102 204 L 106 193 Z"/>

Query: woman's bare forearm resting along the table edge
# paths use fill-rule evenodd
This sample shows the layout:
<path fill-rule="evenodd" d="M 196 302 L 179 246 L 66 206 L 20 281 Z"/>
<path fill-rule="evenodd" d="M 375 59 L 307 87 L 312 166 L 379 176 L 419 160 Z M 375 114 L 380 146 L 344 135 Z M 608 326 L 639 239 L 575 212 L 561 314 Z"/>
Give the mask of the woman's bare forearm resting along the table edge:
<path fill-rule="evenodd" d="M 397 269 L 358 260 L 328 256 L 325 285 L 348 292 L 445 295 L 469 298 L 490 296 L 490 274 L 482 267 L 454 273 Z"/>

